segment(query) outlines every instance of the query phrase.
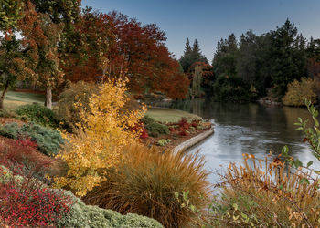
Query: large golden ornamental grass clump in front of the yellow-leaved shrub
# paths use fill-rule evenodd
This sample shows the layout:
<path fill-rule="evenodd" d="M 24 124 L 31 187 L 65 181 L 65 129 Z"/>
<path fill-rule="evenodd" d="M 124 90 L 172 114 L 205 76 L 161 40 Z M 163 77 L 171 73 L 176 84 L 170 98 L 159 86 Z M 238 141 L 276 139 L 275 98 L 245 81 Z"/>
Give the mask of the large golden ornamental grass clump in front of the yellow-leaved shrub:
<path fill-rule="evenodd" d="M 208 171 L 198 153 L 174 154 L 167 150 L 130 145 L 123 162 L 107 173 L 107 181 L 83 198 L 84 202 L 121 213 L 154 218 L 165 227 L 186 227 L 193 218 L 176 201 L 175 192 L 189 190 L 190 202 L 201 208 L 208 195 Z"/>

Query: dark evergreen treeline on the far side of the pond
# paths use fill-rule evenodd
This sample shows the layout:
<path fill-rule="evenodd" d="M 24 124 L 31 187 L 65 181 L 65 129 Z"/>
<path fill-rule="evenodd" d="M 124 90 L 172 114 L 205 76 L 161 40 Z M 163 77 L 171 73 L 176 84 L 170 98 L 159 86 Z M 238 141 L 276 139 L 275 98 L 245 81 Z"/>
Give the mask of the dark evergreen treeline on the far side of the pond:
<path fill-rule="evenodd" d="M 319 62 L 320 39 L 305 39 L 289 19 L 261 36 L 249 30 L 240 40 L 234 34 L 221 38 L 212 66 L 201 54 L 197 40 L 191 48 L 187 39 L 180 58 L 191 81 L 191 97 L 231 101 L 266 96 L 281 100 L 294 80 L 305 77 L 317 81 Z"/>

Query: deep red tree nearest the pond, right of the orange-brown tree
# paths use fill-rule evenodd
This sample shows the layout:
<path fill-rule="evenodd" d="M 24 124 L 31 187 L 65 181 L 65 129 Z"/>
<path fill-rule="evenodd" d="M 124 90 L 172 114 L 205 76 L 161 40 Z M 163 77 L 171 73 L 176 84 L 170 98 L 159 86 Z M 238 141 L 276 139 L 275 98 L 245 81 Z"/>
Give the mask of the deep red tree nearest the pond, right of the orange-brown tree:
<path fill-rule="evenodd" d="M 110 48 L 111 66 L 122 66 L 125 62 L 129 88 L 136 92 L 149 93 L 160 91 L 170 98 L 185 98 L 187 95 L 187 77 L 179 72 L 179 65 L 165 47 L 165 32 L 155 24 L 142 26 L 136 19 L 131 19 L 118 12 L 109 16 L 115 27 L 116 42 Z M 113 62 L 116 61 L 117 64 Z M 122 67 L 115 68 L 122 70 Z M 112 73 L 117 76 L 117 72 Z M 176 79 L 183 80 L 177 96 Z"/>

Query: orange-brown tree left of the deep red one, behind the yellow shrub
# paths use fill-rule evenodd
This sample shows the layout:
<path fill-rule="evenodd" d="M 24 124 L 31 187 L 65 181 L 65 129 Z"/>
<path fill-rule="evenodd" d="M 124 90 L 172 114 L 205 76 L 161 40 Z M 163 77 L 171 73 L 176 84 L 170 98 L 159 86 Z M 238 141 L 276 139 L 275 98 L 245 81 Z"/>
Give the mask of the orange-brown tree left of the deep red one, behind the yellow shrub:
<path fill-rule="evenodd" d="M 73 82 L 95 82 L 101 76 L 105 78 L 111 71 L 110 46 L 115 39 L 111 19 L 86 8 L 74 27 L 72 36 L 69 36 L 74 41 L 74 48 L 67 48 L 62 55 L 66 78 Z"/>

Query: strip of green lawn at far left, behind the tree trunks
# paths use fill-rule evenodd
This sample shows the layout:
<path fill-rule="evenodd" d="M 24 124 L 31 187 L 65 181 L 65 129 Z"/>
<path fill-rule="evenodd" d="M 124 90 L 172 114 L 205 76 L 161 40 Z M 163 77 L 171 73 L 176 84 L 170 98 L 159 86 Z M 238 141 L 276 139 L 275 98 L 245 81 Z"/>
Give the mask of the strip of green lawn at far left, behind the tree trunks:
<path fill-rule="evenodd" d="M 45 96 L 43 94 L 25 93 L 9 91 L 5 95 L 5 109 L 15 110 L 20 105 L 32 104 L 33 102 L 43 104 Z"/>

